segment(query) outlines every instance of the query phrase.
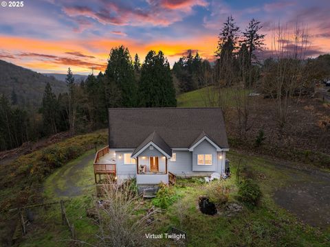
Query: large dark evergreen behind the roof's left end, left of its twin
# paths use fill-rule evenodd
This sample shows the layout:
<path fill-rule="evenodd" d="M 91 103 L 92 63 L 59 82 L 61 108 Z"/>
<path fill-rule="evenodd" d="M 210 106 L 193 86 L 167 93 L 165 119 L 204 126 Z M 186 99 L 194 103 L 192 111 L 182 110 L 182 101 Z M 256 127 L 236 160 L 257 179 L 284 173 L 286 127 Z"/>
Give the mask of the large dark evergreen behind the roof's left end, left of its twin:
<path fill-rule="evenodd" d="M 111 49 L 105 77 L 109 106 L 136 106 L 137 87 L 129 49 L 124 46 Z"/>

